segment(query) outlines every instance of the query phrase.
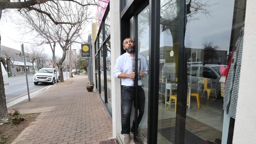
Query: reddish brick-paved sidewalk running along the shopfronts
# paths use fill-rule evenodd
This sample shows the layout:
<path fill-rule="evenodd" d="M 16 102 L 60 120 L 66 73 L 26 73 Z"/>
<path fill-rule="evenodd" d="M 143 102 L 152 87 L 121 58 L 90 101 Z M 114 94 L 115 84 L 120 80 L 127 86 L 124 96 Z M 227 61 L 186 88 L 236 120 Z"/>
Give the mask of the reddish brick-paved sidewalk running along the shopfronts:
<path fill-rule="evenodd" d="M 20 113 L 41 113 L 12 144 L 98 144 L 112 137 L 112 124 L 96 92 L 87 92 L 87 76 L 68 81 L 22 101 Z M 11 107 L 9 108 L 11 109 Z"/>

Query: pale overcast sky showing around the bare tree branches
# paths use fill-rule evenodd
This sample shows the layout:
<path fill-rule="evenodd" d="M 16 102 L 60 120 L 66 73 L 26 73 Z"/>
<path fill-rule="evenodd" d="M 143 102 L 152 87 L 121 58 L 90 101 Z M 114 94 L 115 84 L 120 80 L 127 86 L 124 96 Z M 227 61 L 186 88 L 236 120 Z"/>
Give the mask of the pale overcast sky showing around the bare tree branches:
<path fill-rule="evenodd" d="M 96 7 L 95 10 L 96 11 Z M 94 12 L 95 13 L 95 12 Z M 92 15 L 95 15 L 95 14 Z M 1 45 L 7 46 L 9 48 L 13 48 L 16 50 L 20 50 L 20 45 L 23 43 L 24 47 L 30 46 L 30 44 L 26 42 L 33 42 L 33 34 L 32 33 L 26 33 L 24 34 L 24 31 L 28 30 L 22 30 L 19 28 L 18 24 L 18 18 L 20 17 L 19 14 L 17 14 L 17 10 L 9 10 L 8 13 L 3 13 L 3 17 L 0 20 L 0 33 L 1 33 Z M 91 33 L 91 24 L 88 24 L 85 27 L 85 30 L 83 31 L 83 39 L 87 41 L 88 34 Z M 40 48 L 45 49 L 45 53 L 48 54 L 49 58 L 52 58 L 52 51 L 48 44 L 44 44 L 40 46 Z M 81 44 L 72 44 L 72 49 L 77 49 L 77 52 L 79 52 L 79 49 L 81 48 Z M 59 47 L 59 45 L 56 46 L 55 50 L 56 57 L 62 57 L 62 49 Z"/>

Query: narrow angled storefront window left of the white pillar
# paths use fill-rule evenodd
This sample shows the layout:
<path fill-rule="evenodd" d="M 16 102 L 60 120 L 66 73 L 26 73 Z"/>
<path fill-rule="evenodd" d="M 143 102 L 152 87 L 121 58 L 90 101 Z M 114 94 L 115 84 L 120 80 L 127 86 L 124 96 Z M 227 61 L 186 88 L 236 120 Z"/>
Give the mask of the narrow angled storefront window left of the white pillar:
<path fill-rule="evenodd" d="M 111 44 L 109 5 L 105 10 L 106 12 L 102 18 L 95 41 L 95 75 L 96 90 L 100 94 L 102 102 L 105 103 L 111 115 Z"/>

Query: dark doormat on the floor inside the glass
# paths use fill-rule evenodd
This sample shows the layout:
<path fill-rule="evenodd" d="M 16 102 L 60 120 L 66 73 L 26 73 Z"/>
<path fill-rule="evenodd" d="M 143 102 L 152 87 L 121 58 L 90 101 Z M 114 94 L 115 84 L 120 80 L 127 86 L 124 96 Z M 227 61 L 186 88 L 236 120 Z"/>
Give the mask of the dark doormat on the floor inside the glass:
<path fill-rule="evenodd" d="M 175 127 L 167 127 L 164 129 L 158 129 L 158 132 L 163 135 L 167 140 L 174 144 L 174 137 L 175 137 Z M 194 133 L 191 133 L 187 129 L 185 129 L 185 139 L 184 144 L 203 144 L 205 140 L 198 137 Z"/>

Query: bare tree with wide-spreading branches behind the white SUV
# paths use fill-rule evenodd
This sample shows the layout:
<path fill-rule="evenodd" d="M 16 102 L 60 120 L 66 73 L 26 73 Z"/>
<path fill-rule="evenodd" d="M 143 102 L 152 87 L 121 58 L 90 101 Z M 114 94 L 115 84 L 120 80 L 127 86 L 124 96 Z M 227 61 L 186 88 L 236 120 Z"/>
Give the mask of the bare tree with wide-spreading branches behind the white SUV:
<path fill-rule="evenodd" d="M 54 18 L 60 21 L 67 21 L 72 24 L 59 24 L 54 25 L 48 17 L 42 14 L 37 14 L 35 12 L 22 12 L 21 15 L 25 18 L 23 26 L 29 28 L 31 31 L 36 31 L 38 33 L 37 38 L 43 39 L 43 41 L 36 41 L 37 45 L 50 44 L 52 48 L 52 60 L 55 63 L 54 51 L 56 42 L 63 50 L 62 58 L 57 63 L 60 72 L 60 82 L 63 82 L 63 70 L 62 63 L 66 57 L 66 51 L 73 42 L 81 42 L 81 34 L 83 32 L 83 27 L 87 24 L 92 17 L 90 17 L 90 11 L 87 7 L 80 6 L 79 4 L 53 4 L 56 8 L 54 11 L 50 11 Z M 45 9 L 52 5 L 44 5 Z M 61 6 L 61 7 L 58 7 Z M 41 7 L 42 8 L 42 7 Z M 29 25 L 27 25 L 27 23 Z M 51 45 L 53 43 L 53 45 Z M 79 42 L 80 43 L 80 42 Z"/>

